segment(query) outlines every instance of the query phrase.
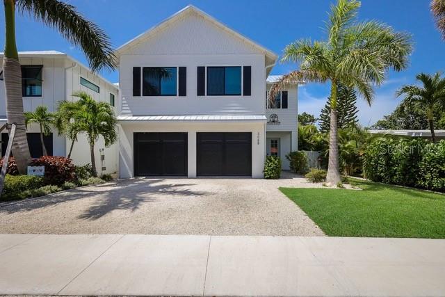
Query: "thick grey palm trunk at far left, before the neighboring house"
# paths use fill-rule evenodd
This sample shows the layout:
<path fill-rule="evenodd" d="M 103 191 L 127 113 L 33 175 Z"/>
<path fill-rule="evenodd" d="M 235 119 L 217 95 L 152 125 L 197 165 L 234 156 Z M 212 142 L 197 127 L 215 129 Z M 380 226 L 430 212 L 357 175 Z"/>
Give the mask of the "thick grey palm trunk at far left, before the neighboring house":
<path fill-rule="evenodd" d="M 15 45 L 15 0 L 3 0 L 5 6 L 6 38 L 3 56 L 3 79 L 6 94 L 6 118 L 15 123 L 17 130 L 13 141 L 13 154 L 19 173 L 26 174 L 31 162 L 28 140 L 26 139 L 25 118 L 22 99 L 22 69 Z"/>

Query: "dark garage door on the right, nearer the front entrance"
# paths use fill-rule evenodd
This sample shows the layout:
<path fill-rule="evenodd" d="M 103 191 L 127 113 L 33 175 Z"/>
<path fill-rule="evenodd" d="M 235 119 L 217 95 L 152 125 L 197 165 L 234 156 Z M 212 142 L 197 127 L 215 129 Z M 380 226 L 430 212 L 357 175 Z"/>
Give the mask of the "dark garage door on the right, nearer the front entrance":
<path fill-rule="evenodd" d="M 252 133 L 197 133 L 197 175 L 252 176 Z"/>

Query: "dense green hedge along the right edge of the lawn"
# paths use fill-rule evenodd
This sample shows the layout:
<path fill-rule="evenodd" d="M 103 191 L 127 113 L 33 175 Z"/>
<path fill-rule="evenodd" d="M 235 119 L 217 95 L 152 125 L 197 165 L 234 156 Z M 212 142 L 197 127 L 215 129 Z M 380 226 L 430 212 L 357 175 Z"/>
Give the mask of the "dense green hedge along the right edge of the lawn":
<path fill-rule="evenodd" d="M 363 169 L 374 182 L 445 191 L 445 141 L 377 138 L 366 147 Z"/>

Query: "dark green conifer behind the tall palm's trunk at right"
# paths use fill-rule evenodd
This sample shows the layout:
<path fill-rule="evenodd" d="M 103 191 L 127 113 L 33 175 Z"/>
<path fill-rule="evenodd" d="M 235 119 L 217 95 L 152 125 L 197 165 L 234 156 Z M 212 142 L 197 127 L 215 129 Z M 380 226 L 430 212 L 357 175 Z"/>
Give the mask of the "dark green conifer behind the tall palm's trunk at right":
<path fill-rule="evenodd" d="M 357 95 L 352 88 L 346 88 L 344 86 L 338 86 L 337 94 L 337 127 L 338 129 L 345 129 L 347 127 L 354 127 L 357 122 L 357 113 L 359 112 L 355 102 L 357 102 Z M 325 107 L 321 110 L 320 118 L 318 119 L 318 125 L 323 132 L 327 132 L 330 129 L 330 113 L 331 113 L 331 98 L 327 98 Z"/>

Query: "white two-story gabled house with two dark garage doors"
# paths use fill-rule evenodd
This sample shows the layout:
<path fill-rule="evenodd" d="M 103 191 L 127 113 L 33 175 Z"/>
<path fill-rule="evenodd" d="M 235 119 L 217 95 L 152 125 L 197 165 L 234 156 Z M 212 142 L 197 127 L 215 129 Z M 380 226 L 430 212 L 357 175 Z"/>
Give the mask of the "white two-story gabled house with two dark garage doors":
<path fill-rule="evenodd" d="M 266 154 L 289 168 L 297 86 L 266 106 L 272 51 L 187 6 L 116 53 L 120 177 L 259 178 Z"/>

